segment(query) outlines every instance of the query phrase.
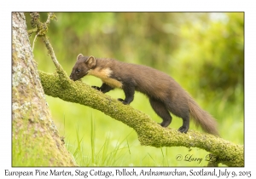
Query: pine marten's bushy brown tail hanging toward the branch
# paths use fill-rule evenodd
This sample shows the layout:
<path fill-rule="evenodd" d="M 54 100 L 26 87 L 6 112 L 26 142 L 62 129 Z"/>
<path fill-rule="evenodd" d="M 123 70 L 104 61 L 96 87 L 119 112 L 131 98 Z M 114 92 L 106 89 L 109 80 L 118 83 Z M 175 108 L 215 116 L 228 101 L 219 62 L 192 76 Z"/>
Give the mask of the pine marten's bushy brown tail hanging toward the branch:
<path fill-rule="evenodd" d="M 202 130 L 209 134 L 219 136 L 216 120 L 209 113 L 202 110 L 192 98 L 189 98 L 189 111 L 197 126 L 200 125 Z"/>

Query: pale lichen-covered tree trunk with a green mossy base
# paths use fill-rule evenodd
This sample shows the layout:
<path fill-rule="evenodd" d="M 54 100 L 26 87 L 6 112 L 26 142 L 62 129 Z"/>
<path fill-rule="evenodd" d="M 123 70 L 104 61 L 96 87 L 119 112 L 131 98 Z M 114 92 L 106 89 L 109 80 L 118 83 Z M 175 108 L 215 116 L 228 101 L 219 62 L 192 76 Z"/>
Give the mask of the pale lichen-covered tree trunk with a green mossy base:
<path fill-rule="evenodd" d="M 13 165 L 74 166 L 45 101 L 23 13 L 12 14 L 12 32 Z"/>

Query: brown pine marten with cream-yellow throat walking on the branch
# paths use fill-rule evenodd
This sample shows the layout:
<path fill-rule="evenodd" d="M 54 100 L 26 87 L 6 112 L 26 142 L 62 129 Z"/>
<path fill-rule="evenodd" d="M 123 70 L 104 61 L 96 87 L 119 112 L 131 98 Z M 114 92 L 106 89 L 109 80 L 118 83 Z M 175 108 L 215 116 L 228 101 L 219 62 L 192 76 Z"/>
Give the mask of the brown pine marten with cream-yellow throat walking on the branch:
<path fill-rule="evenodd" d="M 201 125 L 207 133 L 218 136 L 215 119 L 202 110 L 192 97 L 164 72 L 148 66 L 79 54 L 70 78 L 76 81 L 85 75 L 102 79 L 101 87 L 92 86 L 102 93 L 107 93 L 114 88 L 123 89 L 125 100 L 118 100 L 125 105 L 133 101 L 135 90 L 148 95 L 154 112 L 163 119 L 160 123 L 163 127 L 171 124 L 172 116 L 169 113 L 171 112 L 183 118 L 183 125 L 178 131 L 187 133 L 189 116 L 191 116 L 195 119 L 195 124 Z"/>

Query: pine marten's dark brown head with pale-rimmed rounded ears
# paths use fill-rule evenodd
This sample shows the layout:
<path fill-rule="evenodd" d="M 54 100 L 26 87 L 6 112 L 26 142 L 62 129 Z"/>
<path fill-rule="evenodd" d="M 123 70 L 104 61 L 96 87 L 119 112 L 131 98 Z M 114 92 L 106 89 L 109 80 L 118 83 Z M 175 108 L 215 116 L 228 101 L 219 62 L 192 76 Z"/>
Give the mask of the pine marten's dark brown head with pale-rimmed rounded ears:
<path fill-rule="evenodd" d="M 73 66 L 73 70 L 69 78 L 73 79 L 73 81 L 83 78 L 85 75 L 87 75 L 90 69 L 95 68 L 95 66 L 96 66 L 96 60 L 93 56 L 88 57 L 88 56 L 79 54 L 77 57 L 77 62 Z"/>

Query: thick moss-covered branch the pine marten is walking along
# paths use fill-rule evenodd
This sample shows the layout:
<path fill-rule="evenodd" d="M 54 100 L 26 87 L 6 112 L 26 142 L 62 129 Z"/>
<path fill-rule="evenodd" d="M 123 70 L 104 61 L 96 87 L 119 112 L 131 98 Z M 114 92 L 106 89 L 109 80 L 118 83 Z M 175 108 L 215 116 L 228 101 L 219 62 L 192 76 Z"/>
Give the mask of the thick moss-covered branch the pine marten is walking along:
<path fill-rule="evenodd" d="M 39 72 L 44 93 L 64 101 L 95 108 L 108 116 L 127 124 L 137 132 L 142 145 L 152 147 L 199 147 L 214 154 L 218 163 L 229 166 L 244 165 L 244 148 L 222 138 L 189 130 L 182 134 L 175 129 L 163 128 L 136 109 L 123 105 L 81 81 L 73 82 L 60 73 Z M 214 159 L 212 159 L 214 160 Z"/>

